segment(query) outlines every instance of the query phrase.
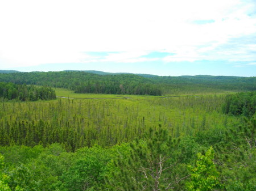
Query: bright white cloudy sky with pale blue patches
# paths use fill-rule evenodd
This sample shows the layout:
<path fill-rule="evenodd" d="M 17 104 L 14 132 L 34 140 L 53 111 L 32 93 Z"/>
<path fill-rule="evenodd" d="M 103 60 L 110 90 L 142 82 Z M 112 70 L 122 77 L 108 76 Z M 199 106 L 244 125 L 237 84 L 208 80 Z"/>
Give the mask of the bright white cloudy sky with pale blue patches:
<path fill-rule="evenodd" d="M 255 0 L 0 0 L 0 70 L 256 76 Z"/>

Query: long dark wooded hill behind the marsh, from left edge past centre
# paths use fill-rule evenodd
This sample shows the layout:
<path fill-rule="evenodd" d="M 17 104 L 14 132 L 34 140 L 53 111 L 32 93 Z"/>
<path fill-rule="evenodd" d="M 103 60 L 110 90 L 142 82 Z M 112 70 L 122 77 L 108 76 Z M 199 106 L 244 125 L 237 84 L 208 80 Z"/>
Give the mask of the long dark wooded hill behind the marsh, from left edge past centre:
<path fill-rule="evenodd" d="M 0 80 L 68 88 L 76 93 L 162 95 L 159 86 L 138 75 L 97 75 L 80 71 L 0 74 Z"/>

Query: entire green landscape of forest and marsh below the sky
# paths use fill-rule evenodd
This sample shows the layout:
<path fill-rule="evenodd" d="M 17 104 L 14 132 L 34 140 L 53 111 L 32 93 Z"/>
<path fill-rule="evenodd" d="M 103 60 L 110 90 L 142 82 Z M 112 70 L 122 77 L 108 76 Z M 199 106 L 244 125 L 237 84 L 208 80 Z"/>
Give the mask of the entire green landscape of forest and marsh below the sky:
<path fill-rule="evenodd" d="M 0 190 L 256 190 L 256 77 L 0 73 Z"/>

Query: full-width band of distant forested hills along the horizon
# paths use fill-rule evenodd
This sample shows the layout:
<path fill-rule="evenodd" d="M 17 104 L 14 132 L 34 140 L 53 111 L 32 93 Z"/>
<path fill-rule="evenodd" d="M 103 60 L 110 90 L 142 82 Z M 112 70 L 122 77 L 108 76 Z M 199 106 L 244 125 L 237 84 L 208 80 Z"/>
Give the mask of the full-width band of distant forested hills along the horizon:
<path fill-rule="evenodd" d="M 134 74 L 98 75 L 83 71 L 0 74 L 0 81 L 68 88 L 77 93 L 163 95 L 210 91 L 253 91 L 256 77 L 142 77 Z"/>

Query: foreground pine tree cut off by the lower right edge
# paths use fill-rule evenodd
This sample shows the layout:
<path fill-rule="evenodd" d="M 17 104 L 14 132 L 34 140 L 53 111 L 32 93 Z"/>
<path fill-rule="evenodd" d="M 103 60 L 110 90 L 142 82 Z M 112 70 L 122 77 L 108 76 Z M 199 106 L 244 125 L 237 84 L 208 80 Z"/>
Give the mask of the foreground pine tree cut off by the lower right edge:
<path fill-rule="evenodd" d="M 226 190 L 256 189 L 256 116 L 226 131 L 224 142 L 216 145 L 218 163 Z"/>

